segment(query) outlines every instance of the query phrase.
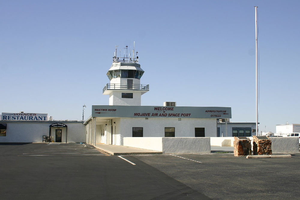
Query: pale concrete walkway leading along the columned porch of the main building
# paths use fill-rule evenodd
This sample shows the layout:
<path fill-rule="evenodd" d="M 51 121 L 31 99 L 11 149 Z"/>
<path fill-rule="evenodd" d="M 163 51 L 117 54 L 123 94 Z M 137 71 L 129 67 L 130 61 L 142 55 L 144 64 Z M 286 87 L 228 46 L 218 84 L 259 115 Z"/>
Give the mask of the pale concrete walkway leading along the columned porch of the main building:
<path fill-rule="evenodd" d="M 105 151 L 109 154 L 114 155 L 137 155 L 137 154 L 162 154 L 161 151 L 153 151 L 147 149 L 140 149 L 134 147 L 127 146 L 119 146 L 119 145 L 105 145 L 102 143 L 97 143 L 96 148 Z"/>

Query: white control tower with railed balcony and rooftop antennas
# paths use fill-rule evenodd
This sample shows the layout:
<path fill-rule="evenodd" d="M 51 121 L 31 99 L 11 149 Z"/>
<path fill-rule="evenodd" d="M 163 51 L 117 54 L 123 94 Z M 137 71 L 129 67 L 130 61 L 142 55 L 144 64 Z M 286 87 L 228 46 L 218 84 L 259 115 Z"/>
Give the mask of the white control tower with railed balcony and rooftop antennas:
<path fill-rule="evenodd" d="M 103 88 L 103 94 L 110 95 L 110 106 L 141 106 L 141 96 L 149 91 L 149 85 L 140 84 L 144 70 L 139 64 L 138 52 L 134 55 L 133 49 L 132 56 L 130 53 L 128 56 L 128 46 L 126 46 L 123 48 L 124 57 L 121 57 L 121 50 L 118 57 L 117 47 L 113 64 L 106 74 L 110 83 Z"/>

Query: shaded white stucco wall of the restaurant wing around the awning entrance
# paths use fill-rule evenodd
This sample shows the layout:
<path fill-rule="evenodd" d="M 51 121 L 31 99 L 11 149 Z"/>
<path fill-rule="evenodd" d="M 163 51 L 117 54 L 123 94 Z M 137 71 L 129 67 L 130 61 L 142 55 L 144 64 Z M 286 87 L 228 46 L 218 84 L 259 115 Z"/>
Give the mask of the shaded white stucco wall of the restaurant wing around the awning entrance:
<path fill-rule="evenodd" d="M 0 121 L 2 124 L 7 124 L 6 136 L 0 137 L 0 142 L 43 142 L 43 136 L 49 136 L 49 126 L 55 123 L 66 124 L 67 142 L 84 142 L 85 141 L 85 126 L 83 122 L 69 121 Z M 62 142 L 66 142 L 66 128 L 52 127 L 51 136 L 54 135 L 51 141 L 55 141 L 55 129 L 62 130 Z"/>

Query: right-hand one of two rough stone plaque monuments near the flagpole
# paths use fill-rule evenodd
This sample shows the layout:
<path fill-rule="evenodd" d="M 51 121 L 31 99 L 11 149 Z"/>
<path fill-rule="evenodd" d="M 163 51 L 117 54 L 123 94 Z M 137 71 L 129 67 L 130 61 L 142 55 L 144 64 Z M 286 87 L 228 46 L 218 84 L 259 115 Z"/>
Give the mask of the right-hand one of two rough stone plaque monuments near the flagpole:
<path fill-rule="evenodd" d="M 267 136 L 253 136 L 253 155 L 272 155 L 271 145 Z"/>

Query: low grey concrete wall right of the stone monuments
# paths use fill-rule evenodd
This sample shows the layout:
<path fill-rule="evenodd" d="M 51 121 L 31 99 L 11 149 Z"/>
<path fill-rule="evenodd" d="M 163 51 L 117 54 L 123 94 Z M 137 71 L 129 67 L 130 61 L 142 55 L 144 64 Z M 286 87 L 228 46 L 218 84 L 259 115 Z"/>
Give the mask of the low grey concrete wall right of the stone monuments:
<path fill-rule="evenodd" d="M 298 137 L 269 137 L 272 142 L 272 153 L 299 153 Z"/>

